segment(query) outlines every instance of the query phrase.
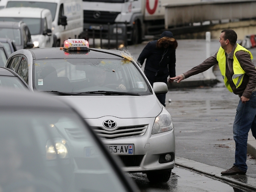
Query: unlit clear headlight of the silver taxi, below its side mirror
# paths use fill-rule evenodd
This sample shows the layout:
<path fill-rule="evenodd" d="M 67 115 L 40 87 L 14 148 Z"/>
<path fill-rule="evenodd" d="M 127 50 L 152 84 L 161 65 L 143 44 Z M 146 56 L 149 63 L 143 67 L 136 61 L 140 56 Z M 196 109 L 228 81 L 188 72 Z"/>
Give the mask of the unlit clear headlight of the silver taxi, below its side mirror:
<path fill-rule="evenodd" d="M 162 112 L 156 117 L 152 134 L 162 133 L 173 129 L 172 117 L 169 112 L 163 108 Z"/>

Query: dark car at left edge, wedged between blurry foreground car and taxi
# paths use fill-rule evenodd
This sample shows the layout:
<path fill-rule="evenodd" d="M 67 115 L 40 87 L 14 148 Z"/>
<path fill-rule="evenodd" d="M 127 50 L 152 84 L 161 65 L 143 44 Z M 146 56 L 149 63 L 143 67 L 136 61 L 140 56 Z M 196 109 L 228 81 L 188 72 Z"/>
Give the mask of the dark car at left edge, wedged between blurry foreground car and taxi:
<path fill-rule="evenodd" d="M 28 84 L 13 70 L 0 66 L 0 87 L 30 90 Z"/>

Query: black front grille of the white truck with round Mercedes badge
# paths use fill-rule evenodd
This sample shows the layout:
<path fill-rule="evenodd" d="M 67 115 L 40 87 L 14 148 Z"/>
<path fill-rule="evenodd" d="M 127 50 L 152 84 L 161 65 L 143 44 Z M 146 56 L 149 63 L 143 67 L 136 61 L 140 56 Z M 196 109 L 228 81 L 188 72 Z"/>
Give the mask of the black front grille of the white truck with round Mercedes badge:
<path fill-rule="evenodd" d="M 100 11 L 100 17 L 94 18 L 96 11 L 84 10 L 84 23 L 96 23 L 96 24 L 114 24 L 116 17 L 120 12 L 109 12 L 109 11 Z"/>

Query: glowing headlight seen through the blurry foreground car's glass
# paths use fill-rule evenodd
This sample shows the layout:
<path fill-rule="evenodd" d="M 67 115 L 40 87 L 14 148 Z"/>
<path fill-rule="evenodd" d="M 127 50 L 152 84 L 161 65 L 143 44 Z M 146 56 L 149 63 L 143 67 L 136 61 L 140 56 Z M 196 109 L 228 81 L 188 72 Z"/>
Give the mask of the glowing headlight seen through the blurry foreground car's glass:
<path fill-rule="evenodd" d="M 62 159 L 68 156 L 68 149 L 64 139 L 56 142 L 54 145 L 51 145 L 49 141 L 46 144 L 46 159 L 56 159 L 57 155 Z"/>

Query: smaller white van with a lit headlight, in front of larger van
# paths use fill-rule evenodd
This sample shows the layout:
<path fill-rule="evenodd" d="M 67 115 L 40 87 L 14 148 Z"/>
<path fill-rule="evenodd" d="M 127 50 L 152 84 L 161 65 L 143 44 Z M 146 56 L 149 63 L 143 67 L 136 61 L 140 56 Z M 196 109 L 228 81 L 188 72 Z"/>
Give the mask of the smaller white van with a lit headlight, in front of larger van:
<path fill-rule="evenodd" d="M 23 21 L 27 24 L 34 48 L 52 47 L 52 14 L 48 9 L 12 7 L 0 10 L 0 21 Z"/>

